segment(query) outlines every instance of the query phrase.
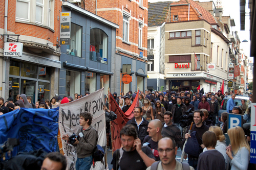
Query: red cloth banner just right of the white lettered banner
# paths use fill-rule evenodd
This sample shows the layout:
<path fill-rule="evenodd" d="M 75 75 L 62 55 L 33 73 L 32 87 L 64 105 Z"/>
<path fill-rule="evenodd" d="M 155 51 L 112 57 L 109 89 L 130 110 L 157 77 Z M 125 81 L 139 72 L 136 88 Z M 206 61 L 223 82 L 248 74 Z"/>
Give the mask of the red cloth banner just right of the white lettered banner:
<path fill-rule="evenodd" d="M 134 108 L 139 107 L 139 92 L 132 103 L 132 106 L 124 113 L 119 105 L 116 103 L 113 95 L 109 92 L 109 108 L 117 114 L 117 118 L 111 122 L 111 138 L 112 138 L 112 152 L 121 148 L 122 142 L 120 138 L 120 131 L 126 123 L 134 117 Z"/>

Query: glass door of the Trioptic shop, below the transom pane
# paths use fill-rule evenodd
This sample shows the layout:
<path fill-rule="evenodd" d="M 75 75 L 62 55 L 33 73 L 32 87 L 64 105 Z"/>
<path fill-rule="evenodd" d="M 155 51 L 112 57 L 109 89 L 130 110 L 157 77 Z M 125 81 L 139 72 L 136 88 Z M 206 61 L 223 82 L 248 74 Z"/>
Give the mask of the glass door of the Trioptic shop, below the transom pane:
<path fill-rule="evenodd" d="M 35 103 L 35 90 L 37 89 L 36 81 L 22 79 L 21 84 L 22 85 L 20 86 L 20 94 L 26 94 L 26 96 L 31 96 L 31 102 Z"/>

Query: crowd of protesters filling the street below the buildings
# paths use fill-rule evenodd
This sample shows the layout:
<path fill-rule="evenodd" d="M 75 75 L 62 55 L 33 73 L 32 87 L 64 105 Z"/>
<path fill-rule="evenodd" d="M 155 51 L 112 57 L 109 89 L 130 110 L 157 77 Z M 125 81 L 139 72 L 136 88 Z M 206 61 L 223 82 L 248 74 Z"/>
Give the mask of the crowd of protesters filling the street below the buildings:
<path fill-rule="evenodd" d="M 122 92 L 120 96 L 113 93 L 115 101 L 123 112 L 131 107 L 136 98 L 137 92 Z M 88 95 L 88 94 L 87 94 Z M 231 95 L 227 101 L 227 110 L 221 114 L 221 124 L 219 124 L 218 111 L 222 100 Z M 134 109 L 134 117 L 120 131 L 122 148 L 113 154 L 113 169 L 247 169 L 250 159 L 250 102 L 242 100 L 241 106 L 236 106 L 234 98 L 242 95 L 238 90 L 237 94 L 233 91 L 222 93 L 208 92 L 205 94 L 200 91 L 139 91 L 139 107 Z M 116 115 L 109 110 L 107 95 L 103 109 L 111 119 Z M 251 98 L 252 96 L 250 96 Z M 19 108 L 44 108 L 51 109 L 54 105 L 72 102 L 81 98 L 75 94 L 64 96 L 63 99 L 55 96 L 51 100 L 41 100 L 33 104 L 31 97 L 20 94 L 15 100 L 9 98 L 6 102 L 0 98 L 0 114 Z M 251 100 L 251 99 L 250 99 Z M 227 114 L 243 115 L 245 127 L 234 127 L 228 129 Z M 184 126 L 184 119 L 194 122 L 194 125 Z M 107 116 L 106 116 L 107 117 Z M 115 118 L 113 118 L 115 117 Z M 90 113 L 80 114 L 80 125 L 83 135 L 95 138 L 91 145 L 97 144 L 97 135 L 92 137 L 89 131 L 94 132 L 91 126 L 92 116 Z M 107 120 L 109 121 L 109 120 Z M 220 125 L 220 126 L 219 126 Z M 108 126 L 108 124 L 107 124 Z M 192 127 L 190 127 L 192 126 Z M 110 128 L 110 127 L 109 127 Z M 108 129 L 108 127 L 107 127 Z M 191 131 L 189 131 L 191 129 Z M 106 131 L 107 136 L 111 135 L 110 130 Z M 91 133 L 91 132 L 90 132 Z M 225 133 L 227 133 L 230 143 L 226 143 Z M 96 133 L 95 133 L 96 134 Z M 246 135 L 248 136 L 246 138 Z M 69 140 L 69 136 L 62 136 Z M 86 139 L 85 139 L 86 138 Z M 79 162 L 76 162 L 76 169 L 79 167 L 90 169 L 90 164 L 84 164 L 84 159 L 90 157 L 92 162 L 92 148 L 87 155 L 79 151 L 89 150 L 82 148 L 88 143 L 87 137 L 81 137 L 73 145 L 78 147 Z M 90 139 L 90 141 L 93 141 Z M 80 143 L 82 144 L 80 144 Z M 186 144 L 184 145 L 184 143 Z M 79 143 L 79 144 L 78 144 Z M 90 142 L 89 142 L 90 143 Z M 88 144 L 89 144 L 88 143 Z M 111 145 L 111 142 L 109 142 Z M 188 163 L 176 160 L 177 150 L 180 148 L 185 151 L 185 159 Z M 89 154 L 90 153 L 90 154 Z M 132 162 L 132 163 L 130 163 Z M 80 168 L 81 169 L 81 168 Z"/>

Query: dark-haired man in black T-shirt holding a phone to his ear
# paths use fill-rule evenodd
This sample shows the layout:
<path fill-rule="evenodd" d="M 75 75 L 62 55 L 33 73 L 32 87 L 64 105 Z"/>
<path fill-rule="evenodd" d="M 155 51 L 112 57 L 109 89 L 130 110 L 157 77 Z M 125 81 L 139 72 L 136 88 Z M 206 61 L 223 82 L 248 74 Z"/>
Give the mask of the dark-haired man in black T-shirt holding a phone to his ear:
<path fill-rule="evenodd" d="M 112 170 L 120 169 L 146 169 L 155 162 L 155 157 L 149 147 L 141 148 L 141 141 L 137 137 L 133 125 L 126 125 L 120 131 L 122 148 L 113 154 Z"/>

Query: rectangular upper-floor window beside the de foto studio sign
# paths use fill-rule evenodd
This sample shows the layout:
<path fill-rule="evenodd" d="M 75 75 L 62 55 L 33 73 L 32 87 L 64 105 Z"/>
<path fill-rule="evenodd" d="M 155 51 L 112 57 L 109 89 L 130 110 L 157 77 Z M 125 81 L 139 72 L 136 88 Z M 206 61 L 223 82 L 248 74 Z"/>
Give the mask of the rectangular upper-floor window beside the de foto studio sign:
<path fill-rule="evenodd" d="M 67 54 L 81 57 L 82 52 L 82 27 L 71 22 L 70 45 L 67 45 Z"/>

